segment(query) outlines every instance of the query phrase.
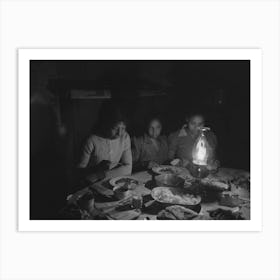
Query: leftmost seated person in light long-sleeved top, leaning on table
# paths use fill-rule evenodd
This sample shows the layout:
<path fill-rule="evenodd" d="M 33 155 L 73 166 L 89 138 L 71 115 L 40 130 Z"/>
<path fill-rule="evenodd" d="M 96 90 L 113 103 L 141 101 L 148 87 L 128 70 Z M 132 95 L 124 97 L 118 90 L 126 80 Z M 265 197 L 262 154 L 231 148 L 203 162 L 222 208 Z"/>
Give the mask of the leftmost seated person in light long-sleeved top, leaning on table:
<path fill-rule="evenodd" d="M 87 139 L 83 147 L 78 169 L 80 177 L 91 182 L 131 174 L 130 137 L 125 121 L 115 106 L 109 105 L 102 111 L 96 133 Z"/>

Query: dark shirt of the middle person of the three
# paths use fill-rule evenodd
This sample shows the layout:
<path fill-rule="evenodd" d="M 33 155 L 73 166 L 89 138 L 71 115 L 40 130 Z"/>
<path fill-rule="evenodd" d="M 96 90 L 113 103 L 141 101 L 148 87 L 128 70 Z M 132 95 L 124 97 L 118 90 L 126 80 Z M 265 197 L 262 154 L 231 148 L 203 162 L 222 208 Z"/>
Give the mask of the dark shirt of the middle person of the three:
<path fill-rule="evenodd" d="M 133 138 L 132 141 L 132 157 L 133 163 L 143 163 L 154 161 L 158 164 L 163 164 L 168 159 L 168 145 L 165 136 L 159 136 L 154 141 L 144 135 L 138 138 Z"/>

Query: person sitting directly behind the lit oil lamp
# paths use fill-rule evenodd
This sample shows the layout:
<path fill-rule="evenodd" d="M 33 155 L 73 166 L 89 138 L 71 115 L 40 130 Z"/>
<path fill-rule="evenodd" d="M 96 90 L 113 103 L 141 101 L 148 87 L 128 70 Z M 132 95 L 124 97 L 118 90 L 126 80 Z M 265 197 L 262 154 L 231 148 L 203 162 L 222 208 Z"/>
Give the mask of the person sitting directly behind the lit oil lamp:
<path fill-rule="evenodd" d="M 186 117 L 185 121 L 185 125 L 168 138 L 168 158 L 172 160 L 171 164 L 188 168 L 188 165 L 192 162 L 193 146 L 200 135 L 200 129 L 204 127 L 205 119 L 201 113 L 191 113 Z M 205 135 L 211 147 L 207 167 L 209 170 L 216 170 L 218 168 L 218 161 L 215 160 L 217 138 L 212 131 L 206 132 Z"/>

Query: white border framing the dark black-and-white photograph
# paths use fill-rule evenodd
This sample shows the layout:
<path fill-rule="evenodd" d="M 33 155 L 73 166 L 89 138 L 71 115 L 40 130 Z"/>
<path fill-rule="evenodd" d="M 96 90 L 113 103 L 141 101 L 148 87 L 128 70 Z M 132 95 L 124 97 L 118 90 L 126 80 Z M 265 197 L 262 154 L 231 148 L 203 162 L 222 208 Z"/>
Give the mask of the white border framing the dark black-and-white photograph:
<path fill-rule="evenodd" d="M 35 221 L 29 220 L 30 60 L 250 60 L 251 220 L 246 221 Z M 19 49 L 19 231 L 261 231 L 262 62 L 260 49 Z M 254 141 L 252 141 L 254 139 Z"/>

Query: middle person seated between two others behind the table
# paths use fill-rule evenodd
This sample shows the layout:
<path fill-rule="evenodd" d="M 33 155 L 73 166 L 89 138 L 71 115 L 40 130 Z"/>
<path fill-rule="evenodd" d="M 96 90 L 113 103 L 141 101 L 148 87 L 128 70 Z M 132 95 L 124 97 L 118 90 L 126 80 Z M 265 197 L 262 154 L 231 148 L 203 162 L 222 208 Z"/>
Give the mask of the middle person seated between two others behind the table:
<path fill-rule="evenodd" d="M 161 120 L 153 117 L 148 120 L 144 135 L 133 138 L 133 170 L 151 169 L 168 160 L 167 138 L 161 131 Z"/>

